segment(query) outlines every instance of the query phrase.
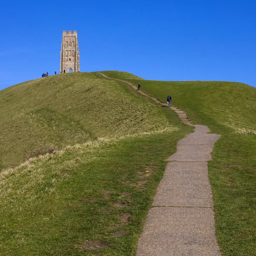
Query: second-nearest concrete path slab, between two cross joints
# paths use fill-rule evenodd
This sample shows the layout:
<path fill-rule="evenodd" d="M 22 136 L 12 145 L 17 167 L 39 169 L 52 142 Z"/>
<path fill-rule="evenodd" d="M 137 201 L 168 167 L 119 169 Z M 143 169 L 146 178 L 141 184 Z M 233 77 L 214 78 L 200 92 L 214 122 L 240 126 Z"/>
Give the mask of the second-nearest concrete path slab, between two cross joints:
<path fill-rule="evenodd" d="M 213 207 L 207 162 L 170 162 L 153 206 Z"/>

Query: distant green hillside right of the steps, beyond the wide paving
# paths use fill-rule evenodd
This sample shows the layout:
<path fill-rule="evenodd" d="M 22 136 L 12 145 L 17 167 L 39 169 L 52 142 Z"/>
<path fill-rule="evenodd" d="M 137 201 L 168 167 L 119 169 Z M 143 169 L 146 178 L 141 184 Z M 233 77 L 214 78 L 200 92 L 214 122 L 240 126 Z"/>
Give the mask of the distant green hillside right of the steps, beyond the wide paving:
<path fill-rule="evenodd" d="M 120 78 L 114 71 L 102 72 L 109 77 L 141 84 L 141 90 L 182 108 L 195 123 L 227 126 L 236 133 L 256 134 L 256 88 L 225 81 L 147 81 Z M 213 127 L 212 127 L 213 128 Z"/>

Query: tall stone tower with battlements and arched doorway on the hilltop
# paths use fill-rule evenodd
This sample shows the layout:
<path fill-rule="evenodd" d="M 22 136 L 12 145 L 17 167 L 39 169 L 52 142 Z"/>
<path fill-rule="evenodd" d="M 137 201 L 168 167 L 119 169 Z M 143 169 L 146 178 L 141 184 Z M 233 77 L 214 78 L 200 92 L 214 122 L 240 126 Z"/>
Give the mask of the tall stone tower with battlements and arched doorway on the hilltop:
<path fill-rule="evenodd" d="M 61 73 L 80 72 L 77 31 L 63 31 L 61 44 Z"/>

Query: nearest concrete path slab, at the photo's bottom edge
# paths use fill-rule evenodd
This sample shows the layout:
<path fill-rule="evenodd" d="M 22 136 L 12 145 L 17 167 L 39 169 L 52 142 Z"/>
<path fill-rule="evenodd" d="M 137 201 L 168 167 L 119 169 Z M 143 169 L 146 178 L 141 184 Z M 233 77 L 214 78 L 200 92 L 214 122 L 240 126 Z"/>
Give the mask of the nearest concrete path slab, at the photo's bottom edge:
<path fill-rule="evenodd" d="M 212 209 L 151 208 L 136 256 L 221 256 Z"/>

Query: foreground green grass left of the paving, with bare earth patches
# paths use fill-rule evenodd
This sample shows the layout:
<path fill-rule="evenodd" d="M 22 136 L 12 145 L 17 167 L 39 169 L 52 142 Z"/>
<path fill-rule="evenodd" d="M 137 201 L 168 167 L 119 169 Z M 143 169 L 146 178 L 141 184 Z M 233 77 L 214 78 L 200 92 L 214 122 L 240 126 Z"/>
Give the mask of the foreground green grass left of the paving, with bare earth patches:
<path fill-rule="evenodd" d="M 135 255 L 165 159 L 189 130 L 80 145 L 31 160 L 15 175 L 7 172 L 1 183 L 1 253 Z M 127 206 L 116 207 L 118 202 Z M 130 221 L 107 230 L 124 213 Z M 118 230 L 127 234 L 107 238 Z M 79 249 L 86 240 L 100 240 L 107 247 Z"/>

